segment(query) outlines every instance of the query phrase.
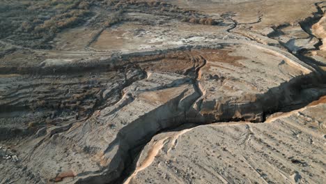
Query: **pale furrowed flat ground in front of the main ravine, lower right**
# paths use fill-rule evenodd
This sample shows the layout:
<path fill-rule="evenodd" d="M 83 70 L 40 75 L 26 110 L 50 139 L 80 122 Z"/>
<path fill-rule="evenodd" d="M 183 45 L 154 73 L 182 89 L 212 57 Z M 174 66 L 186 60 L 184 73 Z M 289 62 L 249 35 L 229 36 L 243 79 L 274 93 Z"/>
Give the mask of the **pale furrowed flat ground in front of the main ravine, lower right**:
<path fill-rule="evenodd" d="M 163 132 L 124 183 L 323 183 L 325 108 L 320 100 L 265 123 Z"/>

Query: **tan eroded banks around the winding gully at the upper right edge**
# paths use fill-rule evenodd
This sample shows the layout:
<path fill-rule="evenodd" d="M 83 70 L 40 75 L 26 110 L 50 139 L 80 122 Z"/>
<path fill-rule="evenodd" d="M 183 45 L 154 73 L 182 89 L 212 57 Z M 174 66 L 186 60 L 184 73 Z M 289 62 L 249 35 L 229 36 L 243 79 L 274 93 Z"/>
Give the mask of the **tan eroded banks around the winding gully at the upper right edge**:
<path fill-rule="evenodd" d="M 266 29 L 269 38 L 278 40 L 288 52 L 309 64 L 321 77 L 326 74 L 325 61 L 325 2 L 314 3 L 316 12 L 297 24 L 281 24 L 273 26 L 272 31 Z"/>

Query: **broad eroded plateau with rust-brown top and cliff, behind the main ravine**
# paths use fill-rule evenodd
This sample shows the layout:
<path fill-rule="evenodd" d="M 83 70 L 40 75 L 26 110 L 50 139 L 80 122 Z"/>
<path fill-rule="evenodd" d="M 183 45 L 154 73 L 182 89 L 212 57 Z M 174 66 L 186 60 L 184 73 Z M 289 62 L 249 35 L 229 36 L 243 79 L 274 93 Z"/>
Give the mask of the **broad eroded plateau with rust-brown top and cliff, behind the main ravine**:
<path fill-rule="evenodd" d="M 115 183 L 135 157 L 130 151 L 157 132 L 185 123 L 262 122 L 268 114 L 304 107 L 326 94 L 313 68 L 277 48 L 251 42 L 122 59 L 126 64 L 121 69 L 98 71 L 94 78 L 83 72 L 73 79 L 72 75 L 1 78 L 10 81 L 1 83 L 6 94 L 1 108 L 11 108 L 3 111 L 2 121 L 14 122 L 13 113 L 22 112 L 30 122 L 38 122 L 30 125 L 23 116 L 9 127 L 36 132 L 16 135 L 25 140 L 13 146 L 22 160 L 18 165 L 26 166 L 34 183 Z M 20 78 L 37 85 L 25 86 Z M 57 87 L 47 89 L 47 84 Z M 83 95 L 70 99 L 83 89 L 80 85 L 86 85 Z M 37 100 L 44 100 L 44 105 Z M 52 107 L 52 100 L 61 105 Z M 78 107 L 73 106 L 76 103 Z M 54 115 L 46 124 L 42 117 L 49 113 Z M 10 167 L 3 173 L 7 174 L 3 180 L 17 177 Z"/>

